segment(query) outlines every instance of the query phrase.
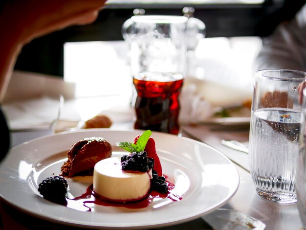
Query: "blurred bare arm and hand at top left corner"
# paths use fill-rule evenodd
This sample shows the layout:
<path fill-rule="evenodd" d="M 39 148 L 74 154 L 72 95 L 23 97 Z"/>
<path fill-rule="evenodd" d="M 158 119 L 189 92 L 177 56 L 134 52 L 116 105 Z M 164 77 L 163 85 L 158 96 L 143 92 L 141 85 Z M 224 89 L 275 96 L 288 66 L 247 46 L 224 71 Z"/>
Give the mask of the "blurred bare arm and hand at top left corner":
<path fill-rule="evenodd" d="M 67 26 L 93 22 L 105 1 L 2 0 L 0 3 L 0 102 L 4 97 L 22 46 L 37 37 Z"/>

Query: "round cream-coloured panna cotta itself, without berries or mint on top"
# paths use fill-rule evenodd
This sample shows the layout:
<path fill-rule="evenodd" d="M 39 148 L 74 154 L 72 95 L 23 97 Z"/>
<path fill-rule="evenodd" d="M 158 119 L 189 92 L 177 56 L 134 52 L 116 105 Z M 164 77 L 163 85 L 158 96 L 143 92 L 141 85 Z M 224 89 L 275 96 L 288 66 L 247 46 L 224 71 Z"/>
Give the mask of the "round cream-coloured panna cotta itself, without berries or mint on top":
<path fill-rule="evenodd" d="M 152 169 L 147 172 L 122 170 L 119 157 L 99 161 L 93 170 L 93 191 L 115 202 L 141 200 L 151 188 Z"/>

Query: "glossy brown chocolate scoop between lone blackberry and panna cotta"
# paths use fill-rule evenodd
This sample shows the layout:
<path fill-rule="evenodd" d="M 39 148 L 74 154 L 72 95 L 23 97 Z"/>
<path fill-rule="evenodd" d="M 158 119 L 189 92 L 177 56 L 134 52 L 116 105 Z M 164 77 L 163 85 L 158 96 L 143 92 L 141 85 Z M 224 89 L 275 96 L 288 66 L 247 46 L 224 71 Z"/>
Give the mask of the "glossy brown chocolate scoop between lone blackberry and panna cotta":
<path fill-rule="evenodd" d="M 69 150 L 68 160 L 62 165 L 62 176 L 91 176 L 94 165 L 111 157 L 112 148 L 105 138 L 84 138 L 74 143 Z"/>

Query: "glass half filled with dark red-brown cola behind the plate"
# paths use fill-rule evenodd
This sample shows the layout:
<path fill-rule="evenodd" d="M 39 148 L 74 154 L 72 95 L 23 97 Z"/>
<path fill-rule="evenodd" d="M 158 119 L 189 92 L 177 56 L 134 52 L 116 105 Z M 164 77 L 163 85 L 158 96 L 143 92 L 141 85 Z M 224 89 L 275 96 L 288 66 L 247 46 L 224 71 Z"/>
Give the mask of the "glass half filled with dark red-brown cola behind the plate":
<path fill-rule="evenodd" d="M 179 93 L 186 73 L 187 17 L 132 16 L 125 28 L 135 89 L 135 129 L 179 134 Z"/>

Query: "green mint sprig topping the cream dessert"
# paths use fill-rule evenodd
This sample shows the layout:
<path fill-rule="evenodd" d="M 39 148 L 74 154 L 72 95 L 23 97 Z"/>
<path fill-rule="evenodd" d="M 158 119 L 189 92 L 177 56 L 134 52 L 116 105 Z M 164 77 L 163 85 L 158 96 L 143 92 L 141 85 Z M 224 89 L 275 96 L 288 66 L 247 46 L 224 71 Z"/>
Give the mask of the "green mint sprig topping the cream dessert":
<path fill-rule="evenodd" d="M 123 148 L 130 153 L 133 152 L 140 153 L 141 151 L 145 150 L 145 147 L 151 135 L 152 135 L 151 130 L 147 130 L 142 135 L 140 135 L 136 144 L 131 142 L 117 142 L 116 146 L 119 146 L 120 148 Z"/>

